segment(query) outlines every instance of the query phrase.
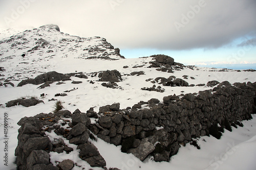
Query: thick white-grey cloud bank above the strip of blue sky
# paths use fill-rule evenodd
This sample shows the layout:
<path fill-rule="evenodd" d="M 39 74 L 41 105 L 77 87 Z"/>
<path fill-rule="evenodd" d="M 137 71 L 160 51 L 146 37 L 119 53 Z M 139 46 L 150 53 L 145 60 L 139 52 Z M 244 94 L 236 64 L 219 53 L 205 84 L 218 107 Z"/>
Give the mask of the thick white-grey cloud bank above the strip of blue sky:
<path fill-rule="evenodd" d="M 11 26 L 54 23 L 63 32 L 101 36 L 120 48 L 217 48 L 256 32 L 254 0 L 20 1 L 31 4 Z M 0 25 L 6 25 L 3 18 L 11 17 L 20 1 L 0 1 Z M 179 29 L 177 22 L 183 25 Z"/>

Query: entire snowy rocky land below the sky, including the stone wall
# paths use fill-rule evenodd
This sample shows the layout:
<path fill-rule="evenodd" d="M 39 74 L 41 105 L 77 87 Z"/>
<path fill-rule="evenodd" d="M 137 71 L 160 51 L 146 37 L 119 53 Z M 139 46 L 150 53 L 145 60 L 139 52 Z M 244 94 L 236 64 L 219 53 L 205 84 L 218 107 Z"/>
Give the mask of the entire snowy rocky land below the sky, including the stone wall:
<path fill-rule="evenodd" d="M 56 25 L 10 31 L 0 39 L 10 169 L 207 169 L 254 146 L 254 70 L 126 59 L 105 38 Z"/>

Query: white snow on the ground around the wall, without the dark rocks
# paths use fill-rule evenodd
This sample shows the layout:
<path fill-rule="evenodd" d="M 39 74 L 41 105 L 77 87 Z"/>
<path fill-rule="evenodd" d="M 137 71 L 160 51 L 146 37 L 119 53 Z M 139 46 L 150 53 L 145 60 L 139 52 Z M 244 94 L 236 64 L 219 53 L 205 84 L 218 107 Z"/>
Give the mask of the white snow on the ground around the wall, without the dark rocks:
<path fill-rule="evenodd" d="M 51 37 L 47 32 L 47 37 Z M 63 38 L 64 34 L 55 33 L 57 38 Z M 43 35 L 43 34 L 42 34 Z M 57 35 L 59 37 L 57 37 Z M 31 35 L 32 36 L 32 35 Z M 69 35 L 66 35 L 69 36 Z M 59 38 L 59 39 L 60 39 Z M 73 37 L 74 38 L 74 37 Z M 47 38 L 45 38 L 47 39 Z M 79 39 L 79 38 L 74 38 Z M 99 38 L 96 38 L 98 40 Z M 48 40 L 50 42 L 50 40 Z M 90 40 L 91 43 L 92 39 Z M 101 42 L 101 41 L 100 41 Z M 31 43 L 31 42 L 30 42 Z M 170 94 L 185 94 L 193 93 L 201 90 L 211 89 L 214 87 L 207 86 L 194 86 L 194 87 L 167 87 L 162 86 L 165 89 L 164 92 L 156 91 L 144 91 L 142 87 L 152 87 L 154 84 L 151 81 L 145 81 L 147 79 L 155 79 L 157 77 L 168 78 L 169 76 L 175 76 L 187 81 L 189 84 L 206 84 L 208 81 L 217 80 L 219 82 L 229 81 L 231 84 L 235 82 L 255 82 L 256 72 L 250 71 L 209 71 L 204 69 L 192 70 L 185 67 L 181 70 L 175 70 L 174 73 L 157 71 L 155 68 L 148 68 L 149 62 L 153 60 L 152 57 L 148 58 L 135 58 L 135 59 L 119 59 L 119 60 L 101 60 L 101 59 L 84 59 L 80 56 L 80 52 L 83 47 L 79 47 L 77 52 L 58 54 L 58 44 L 52 43 L 54 56 L 49 57 L 49 53 L 46 53 L 49 49 L 44 49 L 43 52 L 35 52 L 28 54 L 25 58 L 20 57 L 25 50 L 12 51 L 0 55 L 0 66 L 4 66 L 5 71 L 0 71 L 0 83 L 4 83 L 6 79 L 10 80 L 14 87 L 8 85 L 7 87 L 0 87 L 0 156 L 1 163 L 0 169 L 16 169 L 14 151 L 17 146 L 17 135 L 19 126 L 17 122 L 24 116 L 34 116 L 38 113 L 49 113 L 53 111 L 54 101 L 48 101 L 52 98 L 63 102 L 65 109 L 74 112 L 77 108 L 81 112 L 86 112 L 90 107 L 94 107 L 95 111 L 98 111 L 100 106 L 120 103 L 120 108 L 132 107 L 134 104 L 140 101 L 148 101 L 152 98 L 159 99 L 162 102 L 163 96 Z M 70 42 L 73 43 L 73 42 Z M 55 45 L 55 46 L 54 46 Z M 66 44 L 66 45 L 75 45 Z M 92 45 L 92 44 L 91 44 Z M 4 47 L 4 46 L 1 46 Z M 30 46 L 31 47 L 31 46 Z M 24 48 L 25 49 L 25 48 Z M 27 48 L 29 50 L 30 48 Z M 7 48 L 5 48 L 7 51 Z M 13 48 L 14 50 L 14 48 Z M 65 50 L 65 49 L 64 49 Z M 83 51 L 84 52 L 84 51 Z M 112 53 L 109 50 L 108 53 Z M 1 51 L 2 53 L 2 51 Z M 13 57 L 9 57 L 14 54 Z M 39 54 L 40 53 L 40 54 Z M 76 53 L 78 53 L 76 55 Z M 114 54 L 114 52 L 113 52 Z M 63 57 L 62 55 L 67 55 Z M 80 56 L 80 57 L 79 57 Z M 9 57 L 6 59 L 6 57 Z M 117 56 L 113 56 L 117 58 Z M 176 62 L 179 62 L 175 59 Z M 134 66 L 141 66 L 136 67 Z M 123 66 L 129 66 L 123 68 Z M 103 70 L 117 69 L 121 75 L 123 81 L 118 82 L 118 86 L 122 89 L 111 89 L 101 85 L 102 82 L 98 82 L 98 77 L 91 77 L 93 72 Z M 62 74 L 71 72 L 83 72 L 88 76 L 88 79 L 80 79 L 77 77 L 71 77 L 73 81 L 82 81 L 81 84 L 72 84 L 72 81 L 65 81 L 65 84 L 57 85 L 57 82 L 52 83 L 50 87 L 44 89 L 38 89 L 40 85 L 27 84 L 22 87 L 16 87 L 17 84 L 26 78 L 34 78 L 40 75 L 42 72 L 57 71 Z M 205 70 L 205 71 L 203 71 Z M 134 71 L 144 71 L 145 75 L 140 76 L 127 76 Z M 19 74 L 23 72 L 23 74 Z M 188 79 L 184 79 L 183 76 L 187 75 Z M 13 78 L 10 78 L 13 77 Z M 194 79 L 195 78 L 195 79 Z M 91 84 L 90 81 L 95 82 Z M 156 83 L 158 86 L 158 84 Z M 75 89 L 67 92 L 67 96 L 54 96 L 56 93 L 63 93 L 66 90 Z M 40 94 L 45 93 L 44 97 L 40 97 Z M 43 100 L 44 103 L 40 103 L 36 106 L 23 107 L 14 106 L 7 108 L 5 103 L 11 100 L 18 99 L 22 96 L 36 96 L 38 99 Z M 4 165 L 4 113 L 8 115 L 8 166 Z M 92 120 L 93 121 L 93 120 Z M 181 147 L 178 154 L 170 159 L 170 162 L 154 162 L 151 159 L 146 159 L 143 162 L 139 161 L 132 154 L 125 154 L 120 151 L 120 146 L 116 147 L 113 144 L 106 143 L 101 139 L 97 142 L 92 141 L 99 149 L 100 154 L 106 160 L 106 166 L 118 167 L 120 169 L 256 169 L 256 115 L 253 115 L 253 119 L 244 121 L 244 127 L 234 129 L 232 132 L 225 131 L 222 138 L 217 140 L 210 136 L 204 136 L 198 139 L 198 143 L 201 147 L 197 150 L 193 145 L 187 144 L 185 147 Z M 49 134 L 54 137 L 54 134 Z M 70 147 L 75 147 L 70 145 Z M 74 151 L 71 154 L 51 154 L 51 160 L 61 161 L 66 158 L 72 158 L 76 163 L 90 169 L 88 163 L 81 161 L 77 158 L 77 152 Z M 74 168 L 76 169 L 76 168 Z M 94 168 L 101 169 L 101 168 Z"/>

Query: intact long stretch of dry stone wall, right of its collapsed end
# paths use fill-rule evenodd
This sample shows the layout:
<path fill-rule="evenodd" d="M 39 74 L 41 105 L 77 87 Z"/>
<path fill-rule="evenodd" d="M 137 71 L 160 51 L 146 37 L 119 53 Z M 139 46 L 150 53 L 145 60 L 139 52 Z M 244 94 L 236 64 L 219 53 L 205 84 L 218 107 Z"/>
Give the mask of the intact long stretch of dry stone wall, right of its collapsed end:
<path fill-rule="evenodd" d="M 223 128 L 231 131 L 230 126 L 241 125 L 255 113 L 256 83 L 217 84 L 196 94 L 165 96 L 163 103 L 151 99 L 124 110 L 103 106 L 98 122 L 89 129 L 140 160 L 153 155 L 155 161 L 168 161 L 180 144 L 205 135 L 220 138 Z"/>

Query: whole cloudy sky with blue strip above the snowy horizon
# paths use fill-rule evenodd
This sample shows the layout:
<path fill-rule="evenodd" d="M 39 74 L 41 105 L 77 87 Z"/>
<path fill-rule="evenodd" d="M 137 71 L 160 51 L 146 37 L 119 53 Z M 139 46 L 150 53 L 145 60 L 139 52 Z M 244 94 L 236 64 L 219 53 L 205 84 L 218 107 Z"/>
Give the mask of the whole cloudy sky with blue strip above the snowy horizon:
<path fill-rule="evenodd" d="M 255 0 L 0 0 L 0 27 L 100 36 L 126 58 L 256 69 Z"/>

